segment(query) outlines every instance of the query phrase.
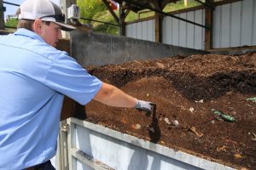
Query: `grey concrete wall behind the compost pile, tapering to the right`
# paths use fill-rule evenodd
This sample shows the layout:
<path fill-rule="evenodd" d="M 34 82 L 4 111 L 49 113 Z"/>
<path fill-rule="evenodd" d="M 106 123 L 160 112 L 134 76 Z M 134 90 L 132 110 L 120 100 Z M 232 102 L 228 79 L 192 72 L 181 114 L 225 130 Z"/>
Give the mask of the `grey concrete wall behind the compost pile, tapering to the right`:
<path fill-rule="evenodd" d="M 71 55 L 80 65 L 120 64 L 131 60 L 159 59 L 177 54 L 206 54 L 191 48 L 119 37 L 96 32 L 73 31 Z"/>

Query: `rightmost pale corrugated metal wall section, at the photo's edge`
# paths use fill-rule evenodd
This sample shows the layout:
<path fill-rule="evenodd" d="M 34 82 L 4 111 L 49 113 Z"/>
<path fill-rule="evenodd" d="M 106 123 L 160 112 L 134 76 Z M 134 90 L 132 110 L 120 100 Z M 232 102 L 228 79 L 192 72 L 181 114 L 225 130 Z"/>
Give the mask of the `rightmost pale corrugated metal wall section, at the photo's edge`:
<path fill-rule="evenodd" d="M 215 8 L 212 48 L 256 45 L 255 3 L 255 0 L 243 0 Z"/>

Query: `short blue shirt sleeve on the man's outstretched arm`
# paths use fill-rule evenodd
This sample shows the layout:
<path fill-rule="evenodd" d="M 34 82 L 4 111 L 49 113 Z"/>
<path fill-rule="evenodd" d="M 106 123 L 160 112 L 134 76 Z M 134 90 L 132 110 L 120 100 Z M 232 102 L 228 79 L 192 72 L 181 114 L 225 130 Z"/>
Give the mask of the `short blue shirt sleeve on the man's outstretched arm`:
<path fill-rule="evenodd" d="M 102 81 L 91 76 L 67 53 L 62 53 L 50 66 L 45 85 L 85 105 L 102 87 Z"/>

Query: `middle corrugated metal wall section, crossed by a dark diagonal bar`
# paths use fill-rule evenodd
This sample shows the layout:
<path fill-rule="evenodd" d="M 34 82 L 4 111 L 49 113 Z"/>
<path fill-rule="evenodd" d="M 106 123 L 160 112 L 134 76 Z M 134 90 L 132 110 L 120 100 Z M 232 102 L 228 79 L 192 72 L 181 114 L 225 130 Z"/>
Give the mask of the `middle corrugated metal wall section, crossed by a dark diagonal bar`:
<path fill-rule="evenodd" d="M 199 9 L 183 14 L 176 14 L 177 17 L 185 20 L 195 21 L 204 25 L 204 10 Z M 200 26 L 195 26 L 171 17 L 163 20 L 163 42 L 185 48 L 204 49 L 205 31 Z"/>

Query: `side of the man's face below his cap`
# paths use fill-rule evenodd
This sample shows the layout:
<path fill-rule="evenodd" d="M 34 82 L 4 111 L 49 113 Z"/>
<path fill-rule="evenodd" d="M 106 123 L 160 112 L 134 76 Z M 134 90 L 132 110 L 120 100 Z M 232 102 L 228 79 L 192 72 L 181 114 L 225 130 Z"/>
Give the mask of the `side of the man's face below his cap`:
<path fill-rule="evenodd" d="M 49 26 L 47 26 L 44 22 L 42 23 L 42 33 L 41 37 L 43 37 L 44 41 L 49 45 L 56 47 L 59 38 L 61 38 L 61 26 L 56 25 L 54 22 L 50 22 Z"/>

